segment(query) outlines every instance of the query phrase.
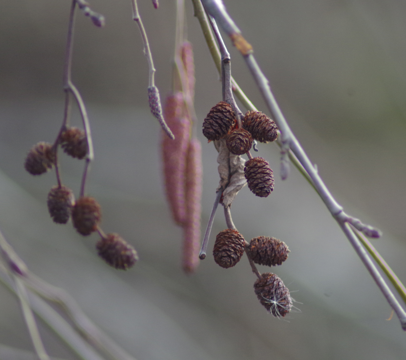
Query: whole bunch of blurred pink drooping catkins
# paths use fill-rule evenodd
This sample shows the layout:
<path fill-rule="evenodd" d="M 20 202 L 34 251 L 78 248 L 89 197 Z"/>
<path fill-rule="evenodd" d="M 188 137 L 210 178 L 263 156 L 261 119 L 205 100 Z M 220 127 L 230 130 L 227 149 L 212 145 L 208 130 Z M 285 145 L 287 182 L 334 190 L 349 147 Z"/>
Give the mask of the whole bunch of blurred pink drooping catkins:
<path fill-rule="evenodd" d="M 166 198 L 173 219 L 183 228 L 182 268 L 193 272 L 199 265 L 202 163 L 200 141 L 191 137 L 194 96 L 194 63 L 192 45 L 186 41 L 179 49 L 186 89 L 166 98 L 164 117 L 175 139 L 162 136 L 162 162 Z M 189 93 L 188 102 L 186 93 Z"/>

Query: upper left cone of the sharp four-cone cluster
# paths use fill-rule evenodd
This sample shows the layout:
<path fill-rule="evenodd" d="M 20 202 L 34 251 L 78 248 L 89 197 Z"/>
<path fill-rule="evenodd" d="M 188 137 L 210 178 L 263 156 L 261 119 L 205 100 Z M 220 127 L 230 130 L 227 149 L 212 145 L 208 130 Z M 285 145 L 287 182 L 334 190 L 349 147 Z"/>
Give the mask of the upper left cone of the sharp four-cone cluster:
<path fill-rule="evenodd" d="M 220 101 L 213 106 L 203 121 L 203 135 L 209 141 L 225 137 L 235 125 L 235 113 L 230 104 Z"/>

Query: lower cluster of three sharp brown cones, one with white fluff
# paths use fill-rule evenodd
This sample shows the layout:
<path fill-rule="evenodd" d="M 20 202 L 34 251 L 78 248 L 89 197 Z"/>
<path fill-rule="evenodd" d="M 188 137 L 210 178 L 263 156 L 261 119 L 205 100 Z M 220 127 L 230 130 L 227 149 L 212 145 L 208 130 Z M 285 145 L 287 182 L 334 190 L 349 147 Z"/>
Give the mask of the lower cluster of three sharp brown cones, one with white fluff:
<path fill-rule="evenodd" d="M 233 267 L 244 251 L 256 264 L 267 266 L 281 265 L 290 252 L 283 241 L 273 237 L 258 236 L 247 243 L 237 230 L 225 229 L 217 234 L 213 256 L 221 267 Z M 289 290 L 277 275 L 263 273 L 255 281 L 254 290 L 261 304 L 275 317 L 284 317 L 292 309 Z"/>

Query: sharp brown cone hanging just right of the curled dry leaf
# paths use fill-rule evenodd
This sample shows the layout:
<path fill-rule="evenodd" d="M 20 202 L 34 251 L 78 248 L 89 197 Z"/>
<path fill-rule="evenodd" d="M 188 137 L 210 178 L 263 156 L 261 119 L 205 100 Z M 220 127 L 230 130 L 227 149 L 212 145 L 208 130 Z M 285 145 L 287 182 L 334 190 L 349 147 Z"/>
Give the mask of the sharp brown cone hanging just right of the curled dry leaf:
<path fill-rule="evenodd" d="M 274 189 L 274 175 L 268 161 L 252 158 L 245 163 L 244 175 L 248 188 L 259 197 L 267 197 Z"/>

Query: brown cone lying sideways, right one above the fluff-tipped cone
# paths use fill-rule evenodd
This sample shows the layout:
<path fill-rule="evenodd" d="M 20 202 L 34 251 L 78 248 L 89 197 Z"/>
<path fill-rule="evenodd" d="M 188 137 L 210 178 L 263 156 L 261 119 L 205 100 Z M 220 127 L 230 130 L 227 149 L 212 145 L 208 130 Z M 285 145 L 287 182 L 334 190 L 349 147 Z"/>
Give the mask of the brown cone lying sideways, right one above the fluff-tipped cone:
<path fill-rule="evenodd" d="M 268 236 L 251 239 L 248 249 L 256 264 L 267 266 L 282 265 L 290 252 L 283 241 Z"/>

